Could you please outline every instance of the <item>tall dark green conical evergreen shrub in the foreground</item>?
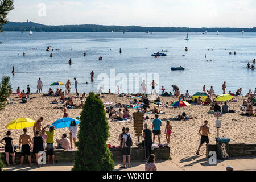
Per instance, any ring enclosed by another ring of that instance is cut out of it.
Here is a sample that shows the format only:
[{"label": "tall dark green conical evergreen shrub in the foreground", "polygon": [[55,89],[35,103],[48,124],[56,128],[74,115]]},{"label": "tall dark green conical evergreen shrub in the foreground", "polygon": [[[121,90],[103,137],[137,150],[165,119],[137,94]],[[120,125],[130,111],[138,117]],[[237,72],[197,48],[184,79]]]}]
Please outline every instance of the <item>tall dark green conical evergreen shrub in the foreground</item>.
[{"label": "tall dark green conical evergreen shrub in the foreground", "polygon": [[73,171],[113,171],[114,161],[111,159],[106,142],[109,138],[109,125],[103,102],[90,92],[80,117],[80,130],[77,135]]}]

